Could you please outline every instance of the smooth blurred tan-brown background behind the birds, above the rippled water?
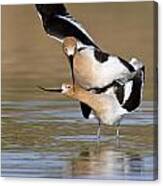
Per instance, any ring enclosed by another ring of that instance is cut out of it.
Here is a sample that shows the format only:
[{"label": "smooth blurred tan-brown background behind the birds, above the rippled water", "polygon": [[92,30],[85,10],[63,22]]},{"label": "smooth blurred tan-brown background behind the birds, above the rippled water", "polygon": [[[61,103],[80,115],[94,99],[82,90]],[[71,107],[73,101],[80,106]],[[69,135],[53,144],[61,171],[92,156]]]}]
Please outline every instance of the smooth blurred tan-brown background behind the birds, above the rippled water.
[{"label": "smooth blurred tan-brown background behind the birds, above the rippled water", "polygon": [[[145,63],[145,100],[153,99],[153,4],[66,4],[105,51],[126,60]],[[60,86],[69,81],[70,69],[61,44],[49,38],[34,5],[2,6],[2,100],[65,99],[44,94],[36,86]],[[108,72],[109,73],[109,72]]]}]

